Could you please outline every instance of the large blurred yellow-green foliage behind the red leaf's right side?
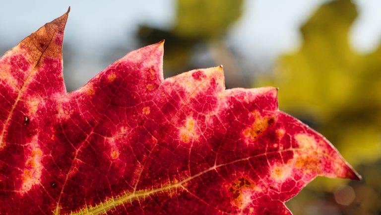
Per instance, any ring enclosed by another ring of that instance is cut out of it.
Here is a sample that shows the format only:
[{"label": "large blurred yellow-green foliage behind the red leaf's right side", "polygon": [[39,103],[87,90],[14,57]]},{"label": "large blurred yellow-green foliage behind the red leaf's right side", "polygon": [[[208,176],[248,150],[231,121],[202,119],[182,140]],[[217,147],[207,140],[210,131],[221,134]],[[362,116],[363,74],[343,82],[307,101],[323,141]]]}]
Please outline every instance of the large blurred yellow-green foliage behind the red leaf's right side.
[{"label": "large blurred yellow-green foliage behind the red leaf's right side", "polygon": [[381,155],[381,48],[353,50],[348,33],[357,16],[350,0],[323,4],[301,27],[301,48],[256,84],[279,87],[281,109],[323,133],[355,166]]}]

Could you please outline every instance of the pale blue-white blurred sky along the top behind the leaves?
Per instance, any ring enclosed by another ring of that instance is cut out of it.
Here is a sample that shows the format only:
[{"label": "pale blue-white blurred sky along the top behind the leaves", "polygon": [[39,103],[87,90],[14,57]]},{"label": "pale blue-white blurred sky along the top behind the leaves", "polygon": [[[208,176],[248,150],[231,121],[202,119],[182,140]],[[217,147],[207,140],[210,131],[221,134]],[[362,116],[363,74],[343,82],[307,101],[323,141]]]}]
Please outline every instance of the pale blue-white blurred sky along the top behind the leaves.
[{"label": "pale blue-white blurred sky along the top behind the leaves", "polygon": [[[168,27],[175,0],[12,0],[1,3],[0,40],[11,48],[44,23],[71,6],[65,30],[66,44],[75,50],[72,64],[81,85],[105,67],[104,50],[120,43],[126,47],[138,24]],[[247,0],[245,13],[229,32],[229,43],[253,62],[271,62],[301,43],[299,26],[324,0]],[[360,16],[351,32],[355,49],[368,52],[381,38],[381,1],[355,0]],[[242,42],[245,41],[245,42]],[[131,47],[131,45],[130,45]],[[133,47],[133,45],[132,45]],[[117,60],[117,59],[115,59]],[[109,62],[111,63],[111,62]],[[82,72],[82,70],[84,72]]]}]

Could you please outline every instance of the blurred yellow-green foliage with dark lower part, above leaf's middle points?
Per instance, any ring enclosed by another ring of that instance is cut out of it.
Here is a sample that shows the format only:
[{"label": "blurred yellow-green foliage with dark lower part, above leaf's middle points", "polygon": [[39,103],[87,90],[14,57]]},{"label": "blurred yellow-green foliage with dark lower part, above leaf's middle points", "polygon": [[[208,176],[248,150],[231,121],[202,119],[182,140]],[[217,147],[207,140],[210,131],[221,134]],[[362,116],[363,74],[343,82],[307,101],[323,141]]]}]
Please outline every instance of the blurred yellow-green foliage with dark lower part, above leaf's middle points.
[{"label": "blurred yellow-green foliage with dark lower part, above leaf's middle points", "polygon": [[196,49],[202,46],[208,49],[210,41],[221,40],[243,11],[243,0],[177,0],[176,3],[176,21],[170,29],[142,25],[137,32],[143,45],[166,39],[167,76],[197,68],[192,62]]}]

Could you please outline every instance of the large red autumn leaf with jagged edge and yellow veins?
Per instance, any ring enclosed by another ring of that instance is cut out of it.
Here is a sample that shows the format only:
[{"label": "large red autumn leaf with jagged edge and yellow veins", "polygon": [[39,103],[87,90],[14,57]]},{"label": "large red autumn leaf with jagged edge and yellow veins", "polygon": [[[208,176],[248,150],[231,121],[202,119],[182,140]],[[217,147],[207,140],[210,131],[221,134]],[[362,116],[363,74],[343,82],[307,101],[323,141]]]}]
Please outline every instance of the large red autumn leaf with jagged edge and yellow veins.
[{"label": "large red autumn leaf with jagged edge and yellow veins", "polygon": [[277,89],[225,90],[222,67],[163,78],[163,44],[67,93],[68,13],[0,60],[0,214],[291,214],[316,176],[359,179]]}]

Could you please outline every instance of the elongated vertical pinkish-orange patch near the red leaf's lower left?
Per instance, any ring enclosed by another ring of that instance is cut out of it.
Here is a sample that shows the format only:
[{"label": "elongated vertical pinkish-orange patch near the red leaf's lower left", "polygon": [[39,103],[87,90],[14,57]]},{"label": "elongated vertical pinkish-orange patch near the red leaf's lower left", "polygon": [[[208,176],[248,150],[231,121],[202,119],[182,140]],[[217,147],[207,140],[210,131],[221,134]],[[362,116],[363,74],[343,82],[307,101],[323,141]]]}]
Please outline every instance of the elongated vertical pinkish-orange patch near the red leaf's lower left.
[{"label": "elongated vertical pinkish-orange patch near the red leaf's lower left", "polygon": [[42,171],[42,150],[38,145],[37,135],[33,137],[31,143],[28,145],[30,153],[25,162],[25,167],[21,175],[22,185],[20,192],[24,194],[28,192],[34,185],[40,183]]}]

